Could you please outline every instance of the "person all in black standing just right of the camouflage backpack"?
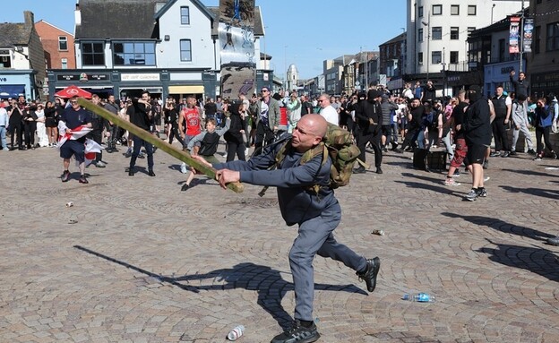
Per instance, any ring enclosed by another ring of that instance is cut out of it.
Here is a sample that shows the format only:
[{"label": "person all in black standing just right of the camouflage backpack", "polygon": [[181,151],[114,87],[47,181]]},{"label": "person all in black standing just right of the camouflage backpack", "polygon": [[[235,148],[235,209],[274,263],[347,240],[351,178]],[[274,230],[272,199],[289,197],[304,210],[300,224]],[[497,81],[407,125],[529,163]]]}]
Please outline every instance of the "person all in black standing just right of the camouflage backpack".
[{"label": "person all in black standing just right of the camouflage backpack", "polygon": [[[383,131],[383,110],[381,99],[383,93],[379,90],[369,90],[366,101],[361,101],[356,108],[357,121],[357,148],[361,150],[359,159],[365,162],[365,147],[367,141],[371,143],[374,150],[374,166],[377,174],[383,174],[381,164],[383,163],[383,152],[381,151],[381,136]],[[359,166],[353,169],[356,174],[365,173],[366,169]]]}]

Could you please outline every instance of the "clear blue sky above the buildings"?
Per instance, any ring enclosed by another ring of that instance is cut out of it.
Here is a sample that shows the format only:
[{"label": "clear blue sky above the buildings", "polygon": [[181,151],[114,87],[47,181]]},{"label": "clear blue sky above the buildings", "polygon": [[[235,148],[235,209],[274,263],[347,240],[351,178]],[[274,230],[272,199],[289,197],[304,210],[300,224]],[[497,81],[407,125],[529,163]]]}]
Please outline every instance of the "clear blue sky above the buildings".
[{"label": "clear blue sky above the buildings", "polygon": [[[285,74],[296,64],[301,78],[323,71],[323,60],[363,50],[378,50],[379,44],[403,32],[407,0],[256,0],[266,27],[266,54],[271,68]],[[73,33],[75,0],[3,0],[0,22],[22,22],[23,11]],[[202,0],[208,6],[219,0]],[[262,47],[263,49],[263,47]]]}]

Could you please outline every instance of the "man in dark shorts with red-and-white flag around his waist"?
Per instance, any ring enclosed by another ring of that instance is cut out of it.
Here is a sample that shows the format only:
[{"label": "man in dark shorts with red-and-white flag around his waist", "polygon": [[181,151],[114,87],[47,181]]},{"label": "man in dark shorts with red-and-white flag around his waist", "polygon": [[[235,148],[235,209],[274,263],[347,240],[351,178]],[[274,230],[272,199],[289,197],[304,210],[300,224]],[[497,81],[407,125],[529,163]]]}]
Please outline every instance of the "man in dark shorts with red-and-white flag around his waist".
[{"label": "man in dark shorts with red-and-white flag around his waist", "polygon": [[[78,104],[78,99],[73,98],[70,100],[70,107],[64,109],[64,113],[60,116],[60,121],[66,125],[66,134],[72,134],[73,131],[79,128],[91,128],[90,112]],[[60,147],[60,157],[64,159],[64,172],[62,173],[62,182],[67,182],[70,179],[70,159],[74,157],[80,164],[80,184],[88,184],[85,177],[85,134],[78,139],[68,139]]]}]

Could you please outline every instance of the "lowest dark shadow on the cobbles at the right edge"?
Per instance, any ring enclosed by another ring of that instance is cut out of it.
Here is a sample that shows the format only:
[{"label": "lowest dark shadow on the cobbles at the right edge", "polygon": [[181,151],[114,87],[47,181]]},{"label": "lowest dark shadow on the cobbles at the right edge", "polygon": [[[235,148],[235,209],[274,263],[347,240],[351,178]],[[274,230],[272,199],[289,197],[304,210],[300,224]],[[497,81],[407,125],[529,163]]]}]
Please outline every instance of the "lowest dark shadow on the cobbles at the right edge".
[{"label": "lowest dark shadow on the cobbles at the right edge", "polygon": [[496,248],[483,247],[478,253],[486,253],[489,260],[504,264],[509,267],[529,270],[544,278],[559,282],[559,262],[557,255],[546,249],[532,246],[520,246],[512,244],[495,244]]}]

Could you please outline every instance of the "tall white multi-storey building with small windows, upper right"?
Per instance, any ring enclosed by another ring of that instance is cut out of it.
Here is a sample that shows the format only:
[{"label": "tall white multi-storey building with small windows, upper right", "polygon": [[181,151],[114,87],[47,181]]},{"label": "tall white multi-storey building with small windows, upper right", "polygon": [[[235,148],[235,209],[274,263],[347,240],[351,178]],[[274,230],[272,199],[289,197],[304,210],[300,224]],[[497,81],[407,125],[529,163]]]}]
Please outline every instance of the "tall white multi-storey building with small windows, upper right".
[{"label": "tall white multi-storey building with small windows, upper right", "polygon": [[[522,8],[522,0],[409,0],[407,74],[468,71],[468,34]],[[419,78],[419,77],[418,77]]]}]

